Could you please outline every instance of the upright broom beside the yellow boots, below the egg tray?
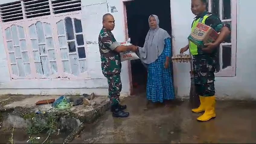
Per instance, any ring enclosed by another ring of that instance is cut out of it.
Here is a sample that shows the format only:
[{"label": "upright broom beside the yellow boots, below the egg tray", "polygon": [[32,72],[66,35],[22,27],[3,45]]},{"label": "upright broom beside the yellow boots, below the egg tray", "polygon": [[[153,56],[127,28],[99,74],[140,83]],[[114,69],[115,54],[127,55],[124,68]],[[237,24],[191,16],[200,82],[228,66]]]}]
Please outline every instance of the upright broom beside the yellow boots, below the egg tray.
[{"label": "upright broom beside the yellow boots, below the egg tray", "polygon": [[[190,53],[189,53],[190,54]],[[191,56],[191,54],[190,54]],[[192,108],[198,108],[200,105],[200,99],[199,95],[196,92],[196,87],[195,87],[195,80],[194,80],[194,72],[193,72],[193,66],[192,66],[192,61],[190,61],[190,93],[189,93],[189,101],[191,104]]]}]

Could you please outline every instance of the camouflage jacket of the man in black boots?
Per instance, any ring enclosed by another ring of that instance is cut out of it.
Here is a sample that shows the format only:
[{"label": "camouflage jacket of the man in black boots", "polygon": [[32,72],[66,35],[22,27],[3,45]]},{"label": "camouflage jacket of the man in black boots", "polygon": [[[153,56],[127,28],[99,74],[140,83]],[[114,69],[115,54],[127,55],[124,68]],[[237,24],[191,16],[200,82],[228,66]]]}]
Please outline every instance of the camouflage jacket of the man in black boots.
[{"label": "camouflage jacket of the man in black boots", "polygon": [[99,48],[101,54],[101,69],[104,76],[121,73],[120,54],[114,51],[120,46],[113,33],[106,28],[102,28],[99,34]]}]

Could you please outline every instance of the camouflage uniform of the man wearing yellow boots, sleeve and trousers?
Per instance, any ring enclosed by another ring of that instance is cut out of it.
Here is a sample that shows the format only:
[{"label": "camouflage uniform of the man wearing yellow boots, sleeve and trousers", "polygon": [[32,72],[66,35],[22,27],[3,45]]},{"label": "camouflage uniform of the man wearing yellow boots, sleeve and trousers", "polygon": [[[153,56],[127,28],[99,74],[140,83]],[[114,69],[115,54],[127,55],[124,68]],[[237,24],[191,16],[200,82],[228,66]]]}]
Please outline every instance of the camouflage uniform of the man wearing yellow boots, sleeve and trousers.
[{"label": "camouflage uniform of the man wearing yellow boots, sleeve and trousers", "polygon": [[[219,17],[215,14],[206,11],[195,17],[195,20],[204,17],[206,14],[209,14],[210,16],[205,20],[205,24],[212,27],[216,32],[220,32],[224,26],[229,27],[229,25],[222,23]],[[216,70],[217,49],[210,54],[202,52],[199,47],[197,50],[198,54],[193,56],[193,71],[196,91],[201,96],[213,96],[215,95],[214,72]]]}]

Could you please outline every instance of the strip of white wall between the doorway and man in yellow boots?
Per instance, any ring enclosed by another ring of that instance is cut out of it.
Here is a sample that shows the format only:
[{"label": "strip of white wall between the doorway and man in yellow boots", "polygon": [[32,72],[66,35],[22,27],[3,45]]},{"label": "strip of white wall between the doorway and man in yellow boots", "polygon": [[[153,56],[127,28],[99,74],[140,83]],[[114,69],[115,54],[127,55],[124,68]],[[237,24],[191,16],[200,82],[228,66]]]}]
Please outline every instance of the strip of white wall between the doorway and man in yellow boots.
[{"label": "strip of white wall between the doorway and man in yellow boots", "polygon": [[[186,2],[184,2],[186,1]],[[180,49],[188,44],[187,36],[191,31],[194,18],[190,10],[190,0],[171,1],[171,31],[173,55],[180,53]],[[188,54],[188,52],[187,52]],[[189,95],[190,91],[190,64],[173,63],[175,94],[181,97]]]}]

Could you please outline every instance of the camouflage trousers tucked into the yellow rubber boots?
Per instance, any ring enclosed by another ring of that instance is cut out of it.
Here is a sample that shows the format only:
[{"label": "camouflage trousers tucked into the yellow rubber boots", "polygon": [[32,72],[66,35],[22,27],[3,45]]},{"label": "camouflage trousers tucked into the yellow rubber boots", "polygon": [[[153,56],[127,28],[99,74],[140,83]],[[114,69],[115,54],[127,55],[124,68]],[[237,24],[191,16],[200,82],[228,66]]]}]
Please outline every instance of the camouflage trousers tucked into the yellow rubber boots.
[{"label": "camouflage trousers tucked into the yellow rubber boots", "polygon": [[212,58],[193,58],[193,72],[196,92],[200,96],[215,95],[215,61]]}]

